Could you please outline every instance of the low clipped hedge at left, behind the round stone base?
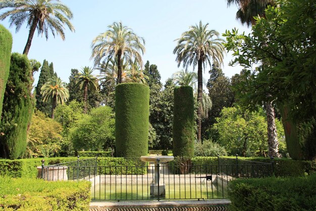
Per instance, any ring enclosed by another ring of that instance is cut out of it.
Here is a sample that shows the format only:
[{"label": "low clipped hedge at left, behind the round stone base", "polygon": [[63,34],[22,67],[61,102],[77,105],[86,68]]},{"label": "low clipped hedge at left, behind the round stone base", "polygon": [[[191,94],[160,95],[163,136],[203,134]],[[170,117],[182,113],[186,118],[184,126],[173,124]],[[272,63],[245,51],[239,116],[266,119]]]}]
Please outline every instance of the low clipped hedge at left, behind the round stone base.
[{"label": "low clipped hedge at left, behind the round stone base", "polygon": [[[45,165],[57,164],[62,162],[75,161],[77,157],[52,157],[52,158],[30,158],[30,159],[0,159],[0,177],[23,177],[36,178],[37,166],[41,166],[41,160],[45,160]],[[80,157],[85,159],[85,157]]]}]

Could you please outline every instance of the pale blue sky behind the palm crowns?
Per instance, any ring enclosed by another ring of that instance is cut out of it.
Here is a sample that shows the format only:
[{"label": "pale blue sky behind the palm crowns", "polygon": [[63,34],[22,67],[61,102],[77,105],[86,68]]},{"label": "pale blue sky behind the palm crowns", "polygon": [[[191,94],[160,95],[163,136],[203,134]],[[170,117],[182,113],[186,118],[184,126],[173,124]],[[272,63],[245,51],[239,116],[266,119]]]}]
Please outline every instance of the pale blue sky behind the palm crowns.
[{"label": "pale blue sky behind the palm crowns", "polygon": [[[214,29],[220,34],[232,28],[239,32],[250,32],[236,20],[237,6],[227,8],[226,0],[61,0],[73,12],[73,23],[76,32],[65,29],[66,39],[63,41],[58,35],[50,33],[48,40],[44,36],[37,36],[35,32],[28,54],[29,59],[36,59],[40,63],[46,59],[54,63],[54,70],[62,80],[69,82],[71,69],[81,69],[84,66],[93,66],[91,57],[92,40],[108,29],[113,22],[122,21],[123,25],[145,39],[146,52],[143,63],[148,60],[155,64],[164,83],[178,68],[173,50],[175,39],[179,38],[189,26],[202,21],[209,23],[208,29]],[[2,11],[0,11],[2,13]],[[22,53],[28,36],[28,28],[24,24],[19,32],[15,27],[9,28],[9,18],[0,21],[13,35],[12,52]],[[224,38],[224,37],[222,37]],[[231,67],[229,62],[232,56],[228,53],[224,60],[223,71],[226,76],[239,73],[240,66]],[[182,64],[181,64],[182,65]],[[209,78],[205,69],[203,78]],[[189,70],[193,70],[189,68]],[[195,69],[197,71],[197,68]],[[95,70],[94,74],[98,74]],[[34,86],[37,83],[39,72],[35,73]]]}]

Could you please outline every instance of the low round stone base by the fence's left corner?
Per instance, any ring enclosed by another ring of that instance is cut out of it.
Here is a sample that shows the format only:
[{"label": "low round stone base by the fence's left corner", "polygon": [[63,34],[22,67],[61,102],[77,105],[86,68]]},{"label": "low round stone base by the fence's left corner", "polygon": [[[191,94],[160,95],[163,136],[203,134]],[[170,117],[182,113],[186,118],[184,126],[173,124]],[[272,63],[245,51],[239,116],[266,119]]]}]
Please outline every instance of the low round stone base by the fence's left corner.
[{"label": "low round stone base by the fence's left corner", "polygon": [[68,166],[55,166],[55,167],[44,167],[43,178],[42,178],[42,166],[37,167],[37,178],[42,178],[48,181],[61,181],[68,180],[67,177]]}]

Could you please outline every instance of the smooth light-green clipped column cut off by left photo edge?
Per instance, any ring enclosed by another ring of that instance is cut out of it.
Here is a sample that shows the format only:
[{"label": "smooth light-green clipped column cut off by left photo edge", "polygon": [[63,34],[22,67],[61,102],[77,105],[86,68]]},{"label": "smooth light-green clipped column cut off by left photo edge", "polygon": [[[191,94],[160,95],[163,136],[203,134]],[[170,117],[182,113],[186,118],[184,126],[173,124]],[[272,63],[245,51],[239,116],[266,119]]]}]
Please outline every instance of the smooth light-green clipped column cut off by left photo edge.
[{"label": "smooth light-green clipped column cut off by left photo edge", "polygon": [[3,25],[0,25],[0,116],[10,70],[11,49],[12,35]]}]

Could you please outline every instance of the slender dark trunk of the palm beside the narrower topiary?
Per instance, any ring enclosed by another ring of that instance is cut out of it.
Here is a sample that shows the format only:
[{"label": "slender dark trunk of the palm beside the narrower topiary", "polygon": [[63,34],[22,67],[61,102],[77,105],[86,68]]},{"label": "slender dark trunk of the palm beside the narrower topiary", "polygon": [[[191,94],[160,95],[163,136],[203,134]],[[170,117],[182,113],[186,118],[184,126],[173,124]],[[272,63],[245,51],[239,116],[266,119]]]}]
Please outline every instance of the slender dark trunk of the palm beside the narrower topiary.
[{"label": "slender dark trunk of the palm beside the narrower topiary", "polygon": [[202,60],[197,61],[197,141],[201,142],[202,98],[203,98]]}]

